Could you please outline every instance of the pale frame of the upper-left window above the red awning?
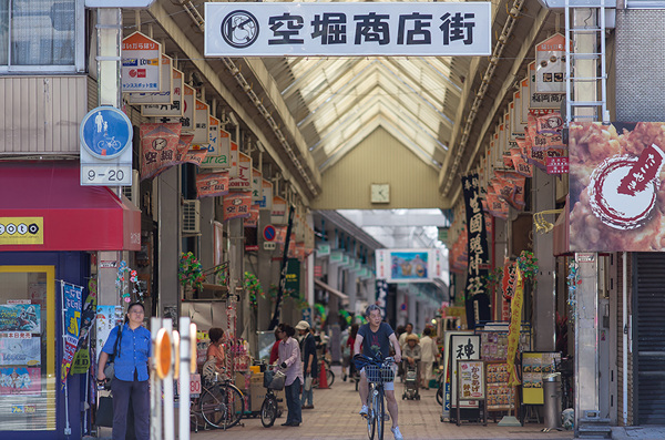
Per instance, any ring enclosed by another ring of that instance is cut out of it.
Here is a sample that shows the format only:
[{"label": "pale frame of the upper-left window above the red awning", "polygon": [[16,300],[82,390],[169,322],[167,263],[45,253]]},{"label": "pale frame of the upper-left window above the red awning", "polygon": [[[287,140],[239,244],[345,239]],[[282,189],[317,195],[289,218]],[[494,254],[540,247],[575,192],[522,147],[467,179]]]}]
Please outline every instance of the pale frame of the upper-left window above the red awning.
[{"label": "pale frame of the upper-left window above the red awning", "polygon": [[[11,13],[12,2],[9,0],[8,10]],[[11,64],[11,28],[8,30],[8,64],[0,64],[1,74],[63,74],[85,72],[85,0],[75,0],[75,25],[74,25],[74,63],[70,65],[12,65]]]}]

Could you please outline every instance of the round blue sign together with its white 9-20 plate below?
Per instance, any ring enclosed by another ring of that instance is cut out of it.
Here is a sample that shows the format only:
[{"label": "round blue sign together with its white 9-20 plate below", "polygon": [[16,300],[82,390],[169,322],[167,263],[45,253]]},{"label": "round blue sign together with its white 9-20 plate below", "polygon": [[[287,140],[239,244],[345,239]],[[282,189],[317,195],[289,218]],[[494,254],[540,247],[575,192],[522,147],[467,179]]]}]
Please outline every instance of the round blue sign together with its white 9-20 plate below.
[{"label": "round blue sign together with its white 9-20 plate below", "polygon": [[81,122],[81,185],[132,185],[132,122],[121,110],[99,106]]}]

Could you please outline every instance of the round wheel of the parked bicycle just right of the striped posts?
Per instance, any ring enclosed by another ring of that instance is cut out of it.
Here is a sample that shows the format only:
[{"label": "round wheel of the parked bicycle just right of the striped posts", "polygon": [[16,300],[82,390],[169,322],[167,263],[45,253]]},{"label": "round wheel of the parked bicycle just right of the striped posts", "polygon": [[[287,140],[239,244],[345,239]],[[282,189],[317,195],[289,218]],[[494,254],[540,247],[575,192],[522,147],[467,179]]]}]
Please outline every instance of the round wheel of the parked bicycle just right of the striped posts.
[{"label": "round wheel of the parked bicycle just right of the striped posts", "polygon": [[201,397],[201,413],[214,428],[231,428],[241,421],[245,402],[241,391],[233,386],[218,386],[206,389]]}]

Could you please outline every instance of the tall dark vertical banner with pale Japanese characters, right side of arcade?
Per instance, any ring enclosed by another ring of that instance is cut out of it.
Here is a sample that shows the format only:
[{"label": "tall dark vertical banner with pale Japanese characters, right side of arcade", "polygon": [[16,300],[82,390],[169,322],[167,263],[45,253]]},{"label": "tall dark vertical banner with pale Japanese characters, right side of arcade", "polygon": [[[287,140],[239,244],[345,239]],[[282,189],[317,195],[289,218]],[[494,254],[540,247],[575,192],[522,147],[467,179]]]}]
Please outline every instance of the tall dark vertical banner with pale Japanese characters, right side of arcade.
[{"label": "tall dark vertical banner with pale Japanese characters, right side of arcade", "polygon": [[490,318],[489,304],[483,304],[483,301],[488,297],[485,279],[489,274],[491,259],[484,212],[480,199],[478,174],[463,176],[462,188],[467,209],[467,249],[469,260],[467,287],[464,289],[467,295],[467,323],[469,328],[474,328],[477,320],[489,320]]}]

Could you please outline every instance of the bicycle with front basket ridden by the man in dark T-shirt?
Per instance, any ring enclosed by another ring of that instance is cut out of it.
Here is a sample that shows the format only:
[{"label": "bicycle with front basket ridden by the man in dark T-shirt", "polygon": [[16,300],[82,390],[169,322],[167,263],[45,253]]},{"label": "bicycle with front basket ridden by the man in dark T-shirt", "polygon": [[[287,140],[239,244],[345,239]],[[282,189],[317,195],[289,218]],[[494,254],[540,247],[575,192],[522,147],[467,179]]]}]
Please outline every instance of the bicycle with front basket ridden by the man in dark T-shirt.
[{"label": "bicycle with front basket ridden by the man in dark T-shirt", "polygon": [[[392,357],[369,358],[365,355],[356,355],[354,358],[359,359],[359,362],[365,362],[365,376],[369,386],[367,436],[369,440],[374,440],[376,433],[378,440],[383,440],[383,423],[387,419],[383,383],[395,381],[395,359]],[[359,365],[356,367],[362,369]]]}]

